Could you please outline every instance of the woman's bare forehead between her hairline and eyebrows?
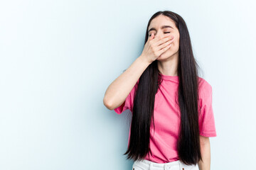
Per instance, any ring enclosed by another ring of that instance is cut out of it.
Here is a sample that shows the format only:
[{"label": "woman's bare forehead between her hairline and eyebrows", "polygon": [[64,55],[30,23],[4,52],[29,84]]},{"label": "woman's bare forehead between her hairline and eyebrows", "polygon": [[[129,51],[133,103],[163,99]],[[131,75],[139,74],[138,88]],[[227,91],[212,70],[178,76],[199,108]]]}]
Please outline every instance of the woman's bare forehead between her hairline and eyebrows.
[{"label": "woman's bare forehead between her hairline and eyebrows", "polygon": [[171,20],[171,18],[169,18],[168,16],[160,15],[156,16],[156,18],[151,21],[148,30],[150,30],[151,28],[159,29],[161,28],[161,26],[171,26],[172,28],[176,29],[175,23]]}]

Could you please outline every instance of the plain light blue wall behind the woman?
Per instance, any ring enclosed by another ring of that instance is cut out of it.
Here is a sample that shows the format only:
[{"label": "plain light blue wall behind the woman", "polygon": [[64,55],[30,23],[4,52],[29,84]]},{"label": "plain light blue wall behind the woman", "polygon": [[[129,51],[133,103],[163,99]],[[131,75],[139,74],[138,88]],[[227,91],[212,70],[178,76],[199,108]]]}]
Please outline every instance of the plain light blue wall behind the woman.
[{"label": "plain light blue wall behind the woman", "polygon": [[255,168],[253,1],[1,1],[0,169],[132,169],[129,112],[103,105],[156,11],[181,15],[213,87],[211,169]]}]

